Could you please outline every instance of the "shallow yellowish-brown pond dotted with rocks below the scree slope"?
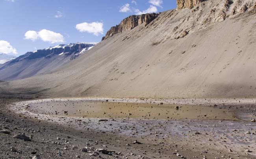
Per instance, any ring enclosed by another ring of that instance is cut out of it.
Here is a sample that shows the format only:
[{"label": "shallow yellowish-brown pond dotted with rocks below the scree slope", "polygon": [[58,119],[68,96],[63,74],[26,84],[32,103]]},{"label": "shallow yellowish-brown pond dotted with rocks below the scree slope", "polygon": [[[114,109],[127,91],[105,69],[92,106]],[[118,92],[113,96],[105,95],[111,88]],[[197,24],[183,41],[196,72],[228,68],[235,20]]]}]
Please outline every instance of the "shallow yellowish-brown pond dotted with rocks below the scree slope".
[{"label": "shallow yellowish-brown pond dotted with rocks below the scree slope", "polygon": [[[179,107],[178,110],[176,106]],[[27,109],[36,114],[86,118],[237,119],[228,108],[156,103],[46,101],[30,104]]]}]

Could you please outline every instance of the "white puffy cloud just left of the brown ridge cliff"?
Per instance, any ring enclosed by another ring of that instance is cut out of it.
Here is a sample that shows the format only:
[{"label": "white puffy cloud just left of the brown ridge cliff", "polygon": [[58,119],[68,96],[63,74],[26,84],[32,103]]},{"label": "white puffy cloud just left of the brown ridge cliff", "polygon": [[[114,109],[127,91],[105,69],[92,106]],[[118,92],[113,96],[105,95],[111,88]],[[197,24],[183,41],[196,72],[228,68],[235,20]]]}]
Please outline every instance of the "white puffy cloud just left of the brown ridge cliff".
[{"label": "white puffy cloud just left of the brown ridge cliff", "polygon": [[96,36],[103,34],[103,23],[102,22],[92,22],[92,23],[79,23],[76,24],[76,29],[80,32],[93,33]]}]

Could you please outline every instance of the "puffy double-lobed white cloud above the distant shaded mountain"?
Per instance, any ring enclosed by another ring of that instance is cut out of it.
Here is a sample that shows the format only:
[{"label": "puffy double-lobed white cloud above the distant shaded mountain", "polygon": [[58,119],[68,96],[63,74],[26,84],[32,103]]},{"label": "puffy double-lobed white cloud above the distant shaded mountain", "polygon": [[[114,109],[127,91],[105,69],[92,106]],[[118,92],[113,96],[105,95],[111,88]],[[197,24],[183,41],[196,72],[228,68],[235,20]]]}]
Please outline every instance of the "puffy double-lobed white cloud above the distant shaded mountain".
[{"label": "puffy double-lobed white cloud above the distant shaded mountain", "polygon": [[53,31],[46,30],[46,29],[43,29],[39,32],[27,31],[25,33],[25,39],[35,41],[39,38],[44,42],[50,42],[50,43],[64,42],[63,35],[61,35],[60,33],[55,33]]}]

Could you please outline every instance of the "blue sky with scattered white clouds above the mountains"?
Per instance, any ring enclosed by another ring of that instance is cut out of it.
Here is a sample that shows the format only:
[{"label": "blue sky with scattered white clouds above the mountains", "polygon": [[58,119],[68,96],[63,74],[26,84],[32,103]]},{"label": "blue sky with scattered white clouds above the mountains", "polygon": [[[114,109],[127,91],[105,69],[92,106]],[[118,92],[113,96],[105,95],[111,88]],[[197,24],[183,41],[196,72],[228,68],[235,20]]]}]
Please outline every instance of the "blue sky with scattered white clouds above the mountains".
[{"label": "blue sky with scattered white clouds above the mountains", "polygon": [[174,8],[176,0],[0,0],[0,53],[100,42],[129,15]]}]

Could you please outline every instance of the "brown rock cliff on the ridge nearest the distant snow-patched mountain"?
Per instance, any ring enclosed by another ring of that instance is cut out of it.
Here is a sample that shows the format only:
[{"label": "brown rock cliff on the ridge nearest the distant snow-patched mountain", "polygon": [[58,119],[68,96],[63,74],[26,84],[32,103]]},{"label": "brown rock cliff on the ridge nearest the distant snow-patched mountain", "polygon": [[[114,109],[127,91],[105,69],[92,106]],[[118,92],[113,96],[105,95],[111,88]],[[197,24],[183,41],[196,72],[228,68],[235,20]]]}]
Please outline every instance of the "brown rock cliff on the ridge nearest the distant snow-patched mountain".
[{"label": "brown rock cliff on the ridge nearest the distant snow-patched mountain", "polygon": [[106,33],[106,36],[102,38],[102,40],[107,39],[117,33],[122,33],[124,31],[130,31],[134,27],[138,25],[148,25],[150,22],[152,22],[156,17],[158,17],[159,14],[157,13],[151,13],[151,14],[141,14],[141,15],[132,15],[124,20],[121,21],[119,25],[116,25],[115,27],[111,27],[109,31]]}]

